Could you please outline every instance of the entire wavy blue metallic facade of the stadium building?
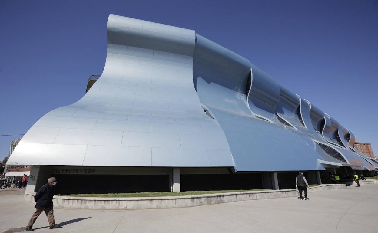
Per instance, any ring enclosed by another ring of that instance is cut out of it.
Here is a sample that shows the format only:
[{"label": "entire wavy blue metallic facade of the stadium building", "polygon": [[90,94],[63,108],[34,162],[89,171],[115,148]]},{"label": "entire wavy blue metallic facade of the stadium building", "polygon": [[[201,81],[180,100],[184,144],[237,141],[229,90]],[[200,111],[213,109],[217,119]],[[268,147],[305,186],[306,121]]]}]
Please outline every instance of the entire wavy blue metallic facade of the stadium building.
[{"label": "entire wavy blue metallic facade of the stadium building", "polygon": [[110,15],[104,71],[50,111],[8,163],[374,170],[339,125],[238,54],[193,30]]}]

